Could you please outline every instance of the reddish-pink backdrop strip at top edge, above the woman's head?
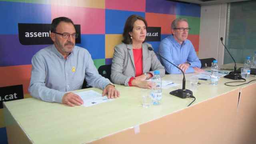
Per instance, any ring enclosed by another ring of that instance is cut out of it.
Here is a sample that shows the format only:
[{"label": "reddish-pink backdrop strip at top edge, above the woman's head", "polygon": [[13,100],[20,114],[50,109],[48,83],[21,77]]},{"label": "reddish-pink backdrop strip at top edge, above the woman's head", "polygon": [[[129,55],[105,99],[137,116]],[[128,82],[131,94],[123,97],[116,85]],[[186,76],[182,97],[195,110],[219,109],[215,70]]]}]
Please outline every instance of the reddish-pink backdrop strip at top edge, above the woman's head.
[{"label": "reddish-pink backdrop strip at top edge, above the woman's head", "polygon": [[106,9],[145,12],[146,0],[106,0]]}]

